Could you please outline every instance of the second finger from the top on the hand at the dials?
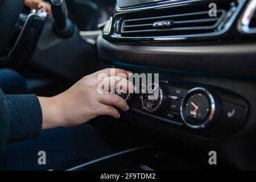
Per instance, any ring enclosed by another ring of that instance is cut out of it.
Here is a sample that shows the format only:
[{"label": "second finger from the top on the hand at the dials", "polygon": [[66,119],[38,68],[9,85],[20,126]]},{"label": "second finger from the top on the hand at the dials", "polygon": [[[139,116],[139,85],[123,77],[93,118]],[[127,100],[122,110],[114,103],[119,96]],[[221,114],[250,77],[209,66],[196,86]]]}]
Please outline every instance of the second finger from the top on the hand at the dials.
[{"label": "second finger from the top on the hand at the dials", "polygon": [[99,80],[98,90],[101,90],[102,92],[108,92],[109,90],[122,90],[127,93],[133,93],[134,85],[131,81],[126,80],[125,78],[112,76]]}]

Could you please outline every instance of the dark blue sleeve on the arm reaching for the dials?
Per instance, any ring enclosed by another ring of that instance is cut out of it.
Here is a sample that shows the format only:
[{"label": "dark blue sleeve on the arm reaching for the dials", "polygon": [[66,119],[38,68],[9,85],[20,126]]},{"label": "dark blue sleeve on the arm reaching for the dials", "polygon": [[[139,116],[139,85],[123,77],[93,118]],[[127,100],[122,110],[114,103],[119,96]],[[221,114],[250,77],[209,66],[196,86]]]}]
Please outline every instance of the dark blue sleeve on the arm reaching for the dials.
[{"label": "dark blue sleeve on the arm reaching for the dials", "polygon": [[1,151],[8,143],[39,137],[41,130],[42,109],[38,97],[5,95],[0,89]]}]

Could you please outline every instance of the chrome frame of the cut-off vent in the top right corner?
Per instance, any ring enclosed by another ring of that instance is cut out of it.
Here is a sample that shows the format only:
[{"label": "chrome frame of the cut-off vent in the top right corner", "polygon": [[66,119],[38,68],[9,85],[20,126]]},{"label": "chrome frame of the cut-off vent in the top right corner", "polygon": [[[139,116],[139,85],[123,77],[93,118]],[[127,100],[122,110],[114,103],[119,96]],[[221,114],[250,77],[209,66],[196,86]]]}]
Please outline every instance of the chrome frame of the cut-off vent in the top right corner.
[{"label": "chrome frame of the cut-off vent in the top right corner", "polygon": [[237,29],[243,34],[256,34],[256,27],[250,28],[251,19],[256,13],[256,0],[251,0],[246,6],[243,14],[238,21]]}]

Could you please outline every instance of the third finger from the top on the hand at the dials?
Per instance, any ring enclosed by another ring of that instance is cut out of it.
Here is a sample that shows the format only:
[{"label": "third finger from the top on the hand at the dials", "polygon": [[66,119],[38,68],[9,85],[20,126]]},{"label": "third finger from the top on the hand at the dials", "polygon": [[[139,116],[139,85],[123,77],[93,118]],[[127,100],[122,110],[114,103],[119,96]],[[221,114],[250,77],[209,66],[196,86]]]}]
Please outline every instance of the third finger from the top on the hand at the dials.
[{"label": "third finger from the top on the hand at the dials", "polygon": [[117,94],[100,94],[99,101],[101,102],[101,104],[112,105],[118,107],[123,111],[129,110],[129,106],[127,105],[126,101]]}]

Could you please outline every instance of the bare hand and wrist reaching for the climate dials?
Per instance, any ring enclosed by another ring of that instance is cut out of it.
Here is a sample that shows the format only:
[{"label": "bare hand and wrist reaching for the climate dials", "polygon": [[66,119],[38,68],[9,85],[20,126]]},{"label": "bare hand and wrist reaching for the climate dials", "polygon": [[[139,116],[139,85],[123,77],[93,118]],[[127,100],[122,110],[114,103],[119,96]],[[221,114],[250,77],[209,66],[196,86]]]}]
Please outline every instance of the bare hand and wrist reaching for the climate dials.
[{"label": "bare hand and wrist reaching for the climate dials", "polygon": [[[110,72],[113,71],[115,72],[114,76],[110,75]],[[107,76],[99,80],[98,76],[102,73]],[[115,107],[127,111],[129,106],[117,94],[105,92],[117,85],[123,90],[133,92],[134,86],[127,80],[128,77],[128,73],[122,69],[104,69],[85,76],[58,96],[52,98],[39,97],[43,111],[43,129],[82,125],[99,115],[110,115],[119,118],[120,114]],[[109,87],[99,87],[102,84],[109,85]]]}]

